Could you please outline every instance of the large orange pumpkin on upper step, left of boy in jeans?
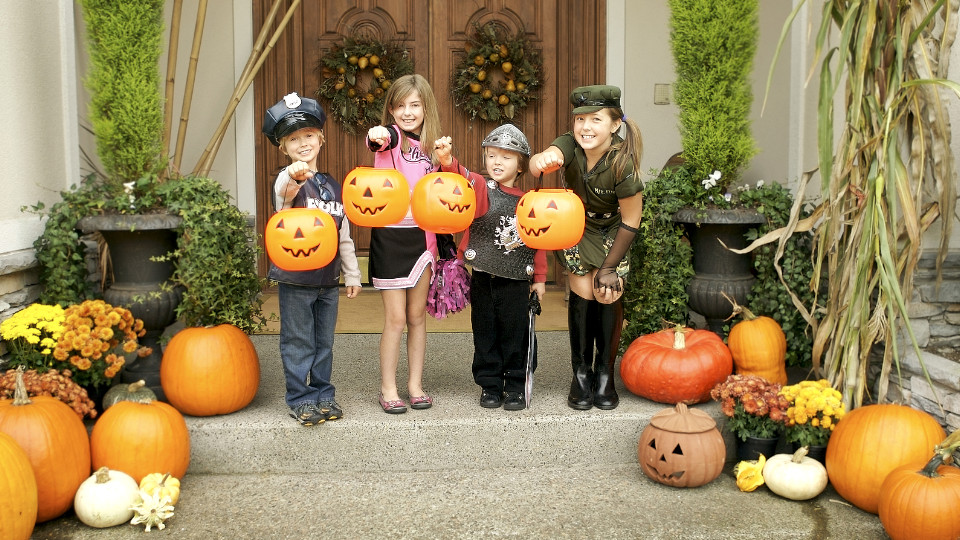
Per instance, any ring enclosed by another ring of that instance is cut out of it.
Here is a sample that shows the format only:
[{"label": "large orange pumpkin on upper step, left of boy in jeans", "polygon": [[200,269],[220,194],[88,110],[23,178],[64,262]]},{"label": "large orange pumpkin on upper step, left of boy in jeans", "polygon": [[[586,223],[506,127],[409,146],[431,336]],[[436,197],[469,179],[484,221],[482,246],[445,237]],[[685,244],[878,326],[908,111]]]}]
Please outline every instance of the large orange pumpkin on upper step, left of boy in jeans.
[{"label": "large orange pumpkin on upper step, left of boy in jeans", "polygon": [[257,395],[260,359],[236,326],[184,328],[163,351],[160,384],[167,401],[184,414],[229,414]]}]

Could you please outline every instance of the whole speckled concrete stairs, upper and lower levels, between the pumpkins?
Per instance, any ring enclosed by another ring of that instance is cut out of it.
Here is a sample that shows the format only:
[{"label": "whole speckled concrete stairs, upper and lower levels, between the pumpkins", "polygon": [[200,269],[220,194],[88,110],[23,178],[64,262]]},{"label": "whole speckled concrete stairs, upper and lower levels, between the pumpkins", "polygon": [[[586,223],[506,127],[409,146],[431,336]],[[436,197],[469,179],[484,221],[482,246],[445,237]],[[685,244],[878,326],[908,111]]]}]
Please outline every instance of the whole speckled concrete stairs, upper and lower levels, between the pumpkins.
[{"label": "whole speckled concrete stairs, upper and lower levels, between the pumpkins", "polygon": [[[469,334],[429,334],[426,411],[376,402],[377,335],[337,335],[342,420],[302,427],[287,415],[277,336],[254,336],[263,367],[254,402],[187,417],[192,460],[167,528],[185,539],[880,539],[876,516],[832,489],[806,502],[740,492],[728,466],[696,489],[670,488],[637,465],[640,432],[665,405],[620,387],[613,411],[566,406],[565,332],[538,333],[530,409],[478,405]],[[404,364],[405,362],[401,362]],[[400,380],[405,381],[405,374]],[[715,404],[699,408],[718,417]],[[722,423],[722,421],[721,421]],[[141,538],[142,526],[93,529],[72,512],[35,540]]]}]

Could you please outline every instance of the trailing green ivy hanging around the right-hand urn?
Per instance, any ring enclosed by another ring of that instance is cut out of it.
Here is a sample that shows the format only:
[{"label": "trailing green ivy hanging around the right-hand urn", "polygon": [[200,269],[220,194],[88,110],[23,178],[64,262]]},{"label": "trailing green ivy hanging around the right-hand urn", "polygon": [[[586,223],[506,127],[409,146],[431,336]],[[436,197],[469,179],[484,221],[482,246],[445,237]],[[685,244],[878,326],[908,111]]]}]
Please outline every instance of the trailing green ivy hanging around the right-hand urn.
[{"label": "trailing green ivy hanging around the right-hand urn", "polygon": [[[629,254],[631,268],[637,270],[627,276],[623,294],[627,324],[621,349],[639,336],[661,330],[663,321],[687,321],[687,286],[694,277],[693,253],[684,239],[683,227],[673,216],[690,201],[701,200],[702,191],[701,186],[689,181],[689,173],[682,167],[665,167],[644,186],[641,233]],[[794,207],[790,191],[776,182],[763,180],[753,186],[739,186],[723,201],[753,209],[765,218],[766,223],[746,231],[747,241],[759,241],[786,225]],[[801,218],[808,214],[800,210]],[[783,329],[787,339],[786,363],[790,366],[810,366],[811,337],[806,331],[807,315],[801,308],[813,298],[809,288],[813,276],[811,240],[810,234],[792,234],[785,239],[782,249],[775,243],[759,245],[747,259],[755,279],[746,305],[757,315],[773,318]],[[729,315],[728,302],[724,317]]]}]

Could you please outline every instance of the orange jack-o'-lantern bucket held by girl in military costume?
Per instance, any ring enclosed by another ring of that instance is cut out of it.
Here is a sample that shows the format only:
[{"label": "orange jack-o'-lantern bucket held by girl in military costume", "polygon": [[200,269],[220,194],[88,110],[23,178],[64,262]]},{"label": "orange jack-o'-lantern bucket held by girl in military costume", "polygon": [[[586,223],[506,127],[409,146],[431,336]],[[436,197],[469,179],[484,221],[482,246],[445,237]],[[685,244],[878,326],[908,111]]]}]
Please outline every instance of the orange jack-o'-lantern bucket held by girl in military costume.
[{"label": "orange jack-o'-lantern bucket held by girl in military costume", "polygon": [[566,249],[583,236],[586,215],[569,189],[528,191],[517,203],[517,232],[533,249]]}]

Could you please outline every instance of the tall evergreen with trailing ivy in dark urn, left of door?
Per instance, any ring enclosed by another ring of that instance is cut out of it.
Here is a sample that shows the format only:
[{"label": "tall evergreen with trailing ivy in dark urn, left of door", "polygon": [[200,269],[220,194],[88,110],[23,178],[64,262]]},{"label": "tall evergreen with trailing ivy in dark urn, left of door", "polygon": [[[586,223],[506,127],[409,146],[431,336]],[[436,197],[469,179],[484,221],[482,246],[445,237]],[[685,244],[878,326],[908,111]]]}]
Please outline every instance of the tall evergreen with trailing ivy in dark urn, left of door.
[{"label": "tall evergreen with trailing ivy in dark urn, left of door", "polygon": [[[128,364],[123,380],[145,379],[162,398],[159,338],[170,323],[231,323],[245,332],[262,326],[255,233],[217,182],[167,170],[169,123],[159,76],[164,2],[82,0],[81,6],[103,171],[62,192],[49,209],[31,208],[48,217],[34,243],[41,301],[66,306],[102,294],[133,311],[153,354]],[[168,62],[175,65],[175,58]],[[252,76],[244,73],[242,82]],[[209,170],[211,156],[205,152],[198,170]],[[93,242],[100,277],[91,280]]]}]

